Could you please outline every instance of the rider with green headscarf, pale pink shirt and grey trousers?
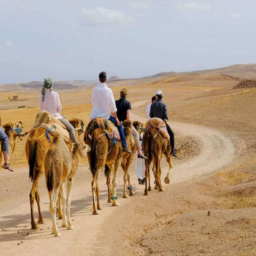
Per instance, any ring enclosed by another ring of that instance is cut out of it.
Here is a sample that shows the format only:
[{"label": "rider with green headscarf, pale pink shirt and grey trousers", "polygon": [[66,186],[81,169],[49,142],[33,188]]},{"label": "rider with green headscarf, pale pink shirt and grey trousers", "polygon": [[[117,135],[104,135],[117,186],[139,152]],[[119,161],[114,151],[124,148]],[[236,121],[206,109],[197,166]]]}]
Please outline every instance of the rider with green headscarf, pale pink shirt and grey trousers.
[{"label": "rider with green headscarf, pale pink shirt and grey trousers", "polygon": [[51,77],[44,78],[44,85],[42,88],[42,94],[40,95],[40,108],[46,110],[55,116],[64,126],[67,128],[70,134],[72,142],[76,142],[76,133],[74,126],[68,122],[64,117],[60,115],[62,106],[60,103],[60,97],[53,89],[54,80]]}]

